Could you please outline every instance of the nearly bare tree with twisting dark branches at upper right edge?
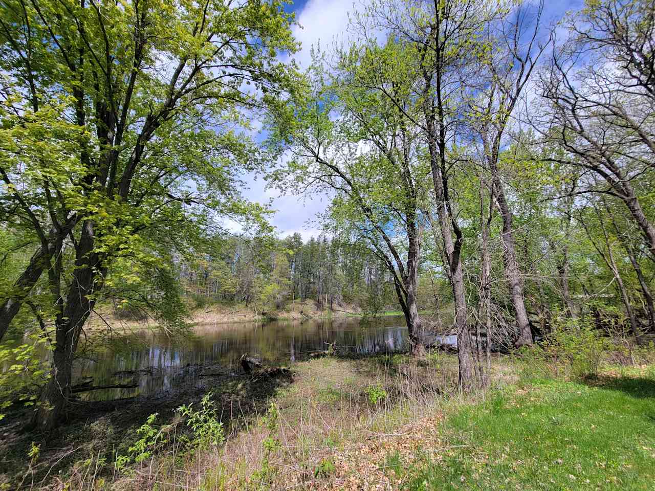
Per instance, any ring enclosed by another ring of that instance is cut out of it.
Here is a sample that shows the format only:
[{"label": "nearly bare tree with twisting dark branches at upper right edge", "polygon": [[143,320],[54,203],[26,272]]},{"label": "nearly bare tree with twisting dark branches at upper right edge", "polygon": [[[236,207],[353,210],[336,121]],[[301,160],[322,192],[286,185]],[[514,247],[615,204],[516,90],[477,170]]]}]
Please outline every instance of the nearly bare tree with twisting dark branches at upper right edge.
[{"label": "nearly bare tree with twisting dark branches at upper right edge", "polygon": [[533,124],[566,152],[553,162],[584,176],[578,193],[610,194],[626,206],[655,261],[648,198],[655,172],[655,4],[601,0],[565,22],[569,37],[539,80]]}]

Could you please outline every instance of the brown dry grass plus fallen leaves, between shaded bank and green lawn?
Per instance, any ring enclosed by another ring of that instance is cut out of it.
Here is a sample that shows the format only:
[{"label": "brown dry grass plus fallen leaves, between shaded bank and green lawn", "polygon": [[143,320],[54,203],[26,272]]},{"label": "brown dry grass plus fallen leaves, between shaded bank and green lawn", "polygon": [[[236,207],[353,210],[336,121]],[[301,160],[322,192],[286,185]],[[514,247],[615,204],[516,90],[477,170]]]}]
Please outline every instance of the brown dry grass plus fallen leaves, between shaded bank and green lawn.
[{"label": "brown dry grass plus fallen leaves, between shaded bank and green lawn", "polygon": [[[456,382],[453,355],[299,363],[293,384],[270,401],[279,414],[272,431],[259,416],[219,448],[181,456],[172,445],[136,474],[115,475],[113,489],[393,489],[398,482],[386,460],[439,450],[444,395],[462,397]],[[386,395],[373,402],[371,388]],[[267,438],[278,442],[268,466]]]}]

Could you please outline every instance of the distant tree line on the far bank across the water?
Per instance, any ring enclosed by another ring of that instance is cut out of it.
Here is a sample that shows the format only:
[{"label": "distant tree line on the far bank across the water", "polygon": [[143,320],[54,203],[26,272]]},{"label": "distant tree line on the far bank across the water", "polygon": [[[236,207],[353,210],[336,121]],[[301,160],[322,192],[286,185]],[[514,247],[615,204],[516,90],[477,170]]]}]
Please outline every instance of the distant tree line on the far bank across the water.
[{"label": "distant tree line on the far bank across the water", "polygon": [[326,234],[303,242],[297,232],[268,240],[223,234],[212,244],[176,261],[183,293],[198,303],[240,303],[260,312],[305,300],[317,309],[354,304],[371,312],[396,304],[386,268],[358,244]]}]

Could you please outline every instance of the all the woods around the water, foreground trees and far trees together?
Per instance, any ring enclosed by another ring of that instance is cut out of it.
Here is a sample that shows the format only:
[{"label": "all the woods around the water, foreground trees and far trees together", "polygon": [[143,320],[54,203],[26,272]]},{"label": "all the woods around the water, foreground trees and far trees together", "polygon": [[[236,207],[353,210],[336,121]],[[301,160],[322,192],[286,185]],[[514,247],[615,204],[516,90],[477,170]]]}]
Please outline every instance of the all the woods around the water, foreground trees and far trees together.
[{"label": "all the woods around the water, foreground trees and far trees together", "polygon": [[[457,335],[463,390],[492,344],[570,319],[655,334],[652,0],[554,22],[543,2],[374,0],[305,70],[288,12],[0,3],[3,411],[57,426],[96,311],[175,336],[207,302],[400,310],[414,355]],[[274,229],[248,175],[327,196],[323,232]]]}]

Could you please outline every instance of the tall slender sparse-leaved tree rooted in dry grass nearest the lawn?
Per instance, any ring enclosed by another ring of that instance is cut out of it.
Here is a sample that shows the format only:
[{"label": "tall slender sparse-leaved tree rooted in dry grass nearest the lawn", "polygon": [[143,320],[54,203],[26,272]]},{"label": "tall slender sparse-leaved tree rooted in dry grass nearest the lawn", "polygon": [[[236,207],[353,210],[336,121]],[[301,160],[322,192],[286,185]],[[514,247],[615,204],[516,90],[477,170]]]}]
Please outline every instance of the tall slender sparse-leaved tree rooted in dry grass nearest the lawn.
[{"label": "tall slender sparse-leaved tree rooted in dry grass nearest the lawn", "polygon": [[461,259],[464,237],[453,198],[452,176],[458,172],[458,164],[465,160],[458,150],[463,77],[471,66],[476,37],[492,11],[486,5],[478,9],[474,2],[467,0],[417,1],[403,5],[380,1],[358,18],[360,29],[369,39],[375,39],[375,29],[382,28],[406,46],[411,75],[405,84],[406,94],[402,92],[402,96],[413,102],[413,110],[405,109],[398,94],[390,90],[384,90],[383,94],[407,118],[408,124],[419,130],[427,147],[445,272],[455,301],[459,380],[465,388],[481,382],[482,374],[472,352]]}]

